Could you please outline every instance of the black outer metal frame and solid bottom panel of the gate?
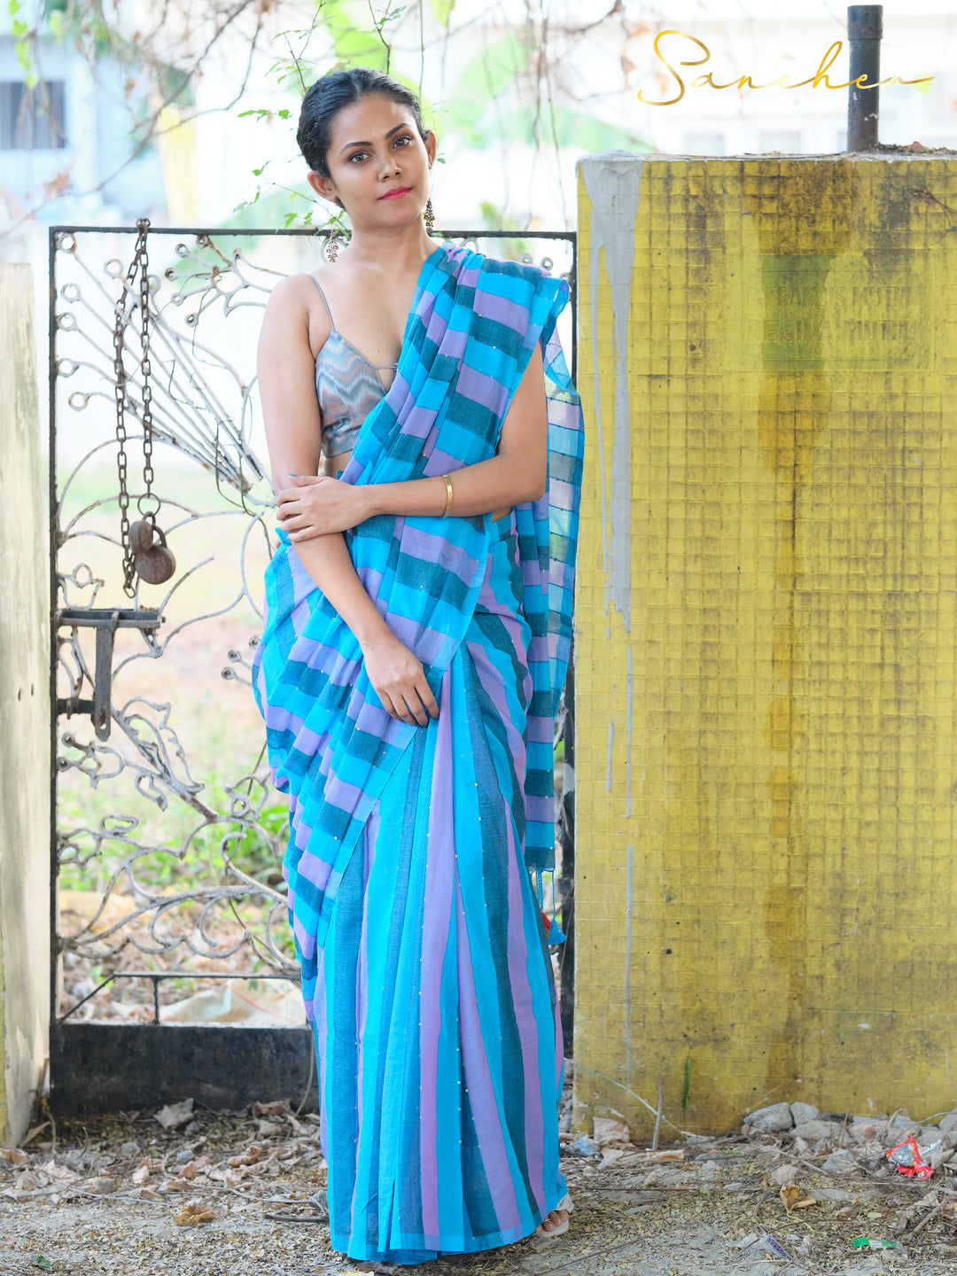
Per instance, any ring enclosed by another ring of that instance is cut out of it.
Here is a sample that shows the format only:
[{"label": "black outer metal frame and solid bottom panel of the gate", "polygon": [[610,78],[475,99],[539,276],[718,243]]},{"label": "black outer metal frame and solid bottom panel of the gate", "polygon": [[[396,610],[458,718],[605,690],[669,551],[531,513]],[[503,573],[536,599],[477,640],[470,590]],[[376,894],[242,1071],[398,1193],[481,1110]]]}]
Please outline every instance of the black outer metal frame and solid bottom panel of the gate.
[{"label": "black outer metal frame and solid bottom panel of the gate", "polygon": [[[225,1026],[175,1026],[160,1022],[158,981],[188,974],[194,979],[225,980],[242,977],[222,972],[209,975],[166,971],[149,974],[138,971],[137,977],[153,980],[154,1020],[151,1023],[71,1022],[70,1014],[83,1004],[57,1014],[57,963],[60,961],[59,906],[57,906],[57,732],[60,713],[57,702],[57,637],[65,623],[59,607],[57,587],[57,490],[56,490],[56,251],[57,236],[75,234],[137,235],[134,226],[78,226],[57,225],[48,230],[48,491],[50,491],[50,1108],[60,1115],[80,1115],[117,1110],[160,1106],[186,1096],[199,1105],[217,1110],[244,1110],[255,1100],[269,1101],[301,1096],[300,1108],[314,1111],[319,1108],[319,1088],[315,1077],[313,1031],[304,1028],[260,1028]],[[291,230],[237,230],[231,227],[166,227],[151,228],[152,236],[181,235],[203,237],[325,237],[328,231],[311,227]],[[572,309],[572,367],[577,384],[577,234],[574,231],[489,231],[450,230],[436,231],[445,240],[476,241],[478,239],[544,239],[570,244],[572,268],[569,272],[569,305]],[[145,609],[140,609],[145,610]],[[91,708],[93,706],[91,704]],[[560,713],[561,736],[565,744],[564,775],[574,781],[574,633],[569,658],[568,679],[563,692]],[[560,1014],[565,1054],[572,1054],[574,1013],[574,782],[563,785],[561,804],[556,819],[556,840],[561,847],[561,873],[554,879],[556,911],[561,917],[565,940],[559,949],[561,974]],[[112,979],[115,972],[100,988]],[[256,979],[282,979],[262,976]],[[94,995],[94,989],[89,997]]]}]

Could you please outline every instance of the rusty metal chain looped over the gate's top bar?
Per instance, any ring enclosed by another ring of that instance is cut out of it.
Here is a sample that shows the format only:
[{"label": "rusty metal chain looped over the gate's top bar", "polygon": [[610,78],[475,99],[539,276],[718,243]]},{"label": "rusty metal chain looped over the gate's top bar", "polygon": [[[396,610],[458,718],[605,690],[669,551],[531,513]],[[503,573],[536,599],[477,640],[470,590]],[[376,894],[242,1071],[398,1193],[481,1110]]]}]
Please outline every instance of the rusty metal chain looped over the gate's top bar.
[{"label": "rusty metal chain looped over the gate's top bar", "polygon": [[[135,283],[137,272],[139,271],[139,314],[140,314],[140,341],[143,346],[143,357],[140,360],[140,369],[143,373],[143,480],[145,485],[145,493],[137,501],[139,512],[144,518],[149,518],[151,523],[156,526],[156,513],[160,508],[160,503],[156,496],[152,495],[151,485],[153,481],[153,416],[152,416],[152,398],[153,392],[149,385],[149,259],[147,255],[147,231],[149,230],[149,218],[140,217],[137,219],[137,248],[133,254],[133,262],[126,272],[126,277],[122,285],[122,296],[116,302],[114,310],[115,323],[114,323],[114,394],[116,398],[116,441],[117,441],[117,454],[116,464],[120,477],[120,544],[122,545],[122,591],[128,597],[133,598],[135,596],[135,588],[133,587],[133,577],[137,573],[135,568],[135,550],[130,541],[130,521],[128,516],[130,495],[126,487],[126,424],[124,420],[124,411],[126,406],[126,369],[122,364],[122,346],[124,346],[124,329],[126,327],[126,297],[129,296],[130,288]],[[144,510],[144,500],[157,501],[156,509]]]}]

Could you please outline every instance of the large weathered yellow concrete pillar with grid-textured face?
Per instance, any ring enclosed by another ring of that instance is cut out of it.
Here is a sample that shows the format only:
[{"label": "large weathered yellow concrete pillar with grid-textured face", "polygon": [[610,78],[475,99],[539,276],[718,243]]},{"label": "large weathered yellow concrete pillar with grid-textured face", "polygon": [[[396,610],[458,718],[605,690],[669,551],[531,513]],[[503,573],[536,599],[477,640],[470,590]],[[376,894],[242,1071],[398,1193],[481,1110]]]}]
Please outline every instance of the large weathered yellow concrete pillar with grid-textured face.
[{"label": "large weathered yellow concrete pillar with grid-textured face", "polygon": [[949,1110],[957,162],[578,189],[575,1125]]}]

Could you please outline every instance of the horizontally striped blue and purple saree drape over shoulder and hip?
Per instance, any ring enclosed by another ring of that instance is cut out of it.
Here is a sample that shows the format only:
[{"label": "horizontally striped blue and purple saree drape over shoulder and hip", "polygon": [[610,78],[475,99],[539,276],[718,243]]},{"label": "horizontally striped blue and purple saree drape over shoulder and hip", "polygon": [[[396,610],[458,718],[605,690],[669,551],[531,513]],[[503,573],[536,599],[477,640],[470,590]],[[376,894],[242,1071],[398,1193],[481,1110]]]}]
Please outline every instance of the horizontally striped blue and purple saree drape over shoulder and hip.
[{"label": "horizontally striped blue and purple saree drape over shoulder and hip", "polygon": [[[549,489],[514,507],[532,686],[523,855],[540,892],[541,872],[554,868],[553,731],[568,665],[583,450],[581,403],[555,333],[567,300],[568,285],[537,267],[436,249],[420,272],[394,380],[364,421],[342,475],[355,484],[396,482],[487,459],[541,345]],[[472,623],[491,526],[489,514],[379,516],[346,533],[360,579],[422,661],[440,704],[443,676]],[[283,873],[311,1021],[318,957],[350,857],[389,777],[426,729],[385,712],[359,643],[277,531],[253,686],[273,781],[290,799]]]}]

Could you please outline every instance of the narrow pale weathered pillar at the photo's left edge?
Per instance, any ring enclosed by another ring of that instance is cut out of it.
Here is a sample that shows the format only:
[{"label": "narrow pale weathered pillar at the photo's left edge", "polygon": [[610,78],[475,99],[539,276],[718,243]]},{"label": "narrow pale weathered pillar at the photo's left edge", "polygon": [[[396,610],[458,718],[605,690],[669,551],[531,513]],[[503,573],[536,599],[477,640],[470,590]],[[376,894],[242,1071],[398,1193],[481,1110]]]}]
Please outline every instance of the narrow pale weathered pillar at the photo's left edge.
[{"label": "narrow pale weathered pillar at the photo's left edge", "polygon": [[0,1143],[27,1132],[50,1031],[48,517],[33,283],[0,263]]}]

